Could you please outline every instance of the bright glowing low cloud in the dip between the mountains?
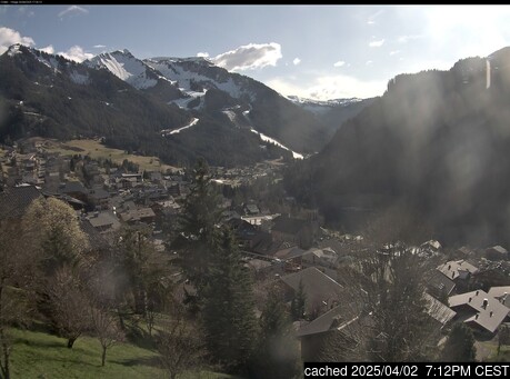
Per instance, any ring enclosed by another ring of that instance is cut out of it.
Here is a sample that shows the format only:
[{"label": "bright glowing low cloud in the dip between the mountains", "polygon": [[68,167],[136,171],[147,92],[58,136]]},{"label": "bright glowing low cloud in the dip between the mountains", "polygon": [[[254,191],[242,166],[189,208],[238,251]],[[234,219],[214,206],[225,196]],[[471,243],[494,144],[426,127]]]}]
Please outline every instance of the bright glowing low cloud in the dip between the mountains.
[{"label": "bright glowing low cloud in the dip between the mountains", "polygon": [[387,89],[386,80],[362,81],[349,76],[318,77],[308,86],[302,84],[302,81],[291,81],[288,78],[276,78],[264,83],[284,96],[296,94],[316,100],[371,98],[382,96]]}]

